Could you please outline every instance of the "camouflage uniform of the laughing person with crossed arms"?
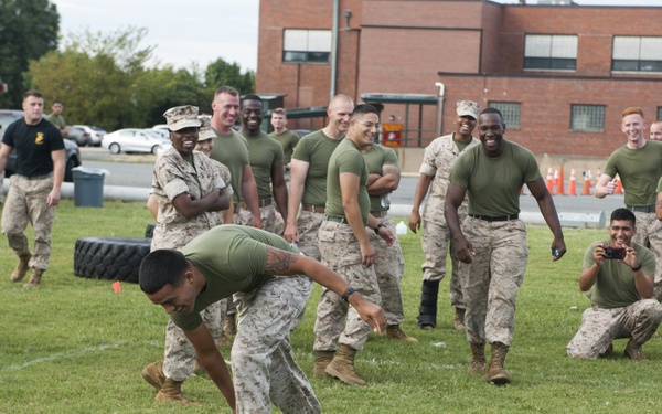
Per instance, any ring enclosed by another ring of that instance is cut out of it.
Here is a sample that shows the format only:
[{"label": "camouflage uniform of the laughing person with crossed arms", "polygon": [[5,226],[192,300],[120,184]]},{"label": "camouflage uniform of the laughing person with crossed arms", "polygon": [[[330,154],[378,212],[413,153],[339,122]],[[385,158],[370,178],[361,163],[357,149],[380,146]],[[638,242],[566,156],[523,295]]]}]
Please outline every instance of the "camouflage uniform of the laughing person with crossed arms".
[{"label": "camouflage uniform of the laughing person with crossed arms", "polygon": [[[152,188],[159,201],[159,214],[151,250],[180,248],[195,236],[221,224],[218,212],[204,212],[192,219],[184,219],[172,205],[171,200],[183,192],[200,199],[217,188],[226,188],[220,179],[218,167],[205,155],[193,152],[193,168],[180,153],[170,148],[154,166]],[[223,317],[226,300],[220,300],[201,311],[201,316],[215,341],[223,333]],[[185,333],[172,320],[166,329],[166,353],[163,373],[173,381],[185,381],[191,376],[195,349]]]}]

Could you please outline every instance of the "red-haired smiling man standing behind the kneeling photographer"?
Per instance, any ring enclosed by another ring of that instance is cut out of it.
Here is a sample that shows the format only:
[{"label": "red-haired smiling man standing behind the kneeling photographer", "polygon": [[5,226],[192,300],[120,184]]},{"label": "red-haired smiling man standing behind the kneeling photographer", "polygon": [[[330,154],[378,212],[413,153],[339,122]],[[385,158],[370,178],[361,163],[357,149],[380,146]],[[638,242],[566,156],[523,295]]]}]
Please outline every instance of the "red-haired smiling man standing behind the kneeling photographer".
[{"label": "red-haired smiling man standing behind the kneeling photographer", "polygon": [[655,255],[655,293],[662,299],[662,223],[655,215],[658,181],[662,177],[662,142],[647,141],[643,112],[630,107],[621,114],[621,131],[627,137],[624,146],[609,156],[602,176],[596,183],[596,197],[602,199],[616,191],[618,174],[626,192],[626,208],[637,217],[634,241],[650,246]]}]

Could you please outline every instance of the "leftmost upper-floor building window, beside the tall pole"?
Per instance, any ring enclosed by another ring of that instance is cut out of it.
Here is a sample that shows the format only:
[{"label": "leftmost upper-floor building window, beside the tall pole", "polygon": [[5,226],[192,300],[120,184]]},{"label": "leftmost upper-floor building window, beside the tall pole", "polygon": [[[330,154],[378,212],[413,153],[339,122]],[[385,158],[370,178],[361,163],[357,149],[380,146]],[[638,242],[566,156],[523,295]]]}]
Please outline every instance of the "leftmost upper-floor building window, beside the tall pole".
[{"label": "leftmost upper-floor building window, beside the tall pole", "polygon": [[282,40],[284,62],[329,62],[331,31],[286,29]]}]

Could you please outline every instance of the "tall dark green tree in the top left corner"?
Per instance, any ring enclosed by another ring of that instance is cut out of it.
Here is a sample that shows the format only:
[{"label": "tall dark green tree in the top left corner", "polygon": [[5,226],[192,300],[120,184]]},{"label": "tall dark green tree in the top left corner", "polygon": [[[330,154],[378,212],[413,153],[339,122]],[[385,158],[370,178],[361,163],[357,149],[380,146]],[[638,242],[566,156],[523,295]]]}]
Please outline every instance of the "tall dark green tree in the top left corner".
[{"label": "tall dark green tree in the top left corner", "polygon": [[47,0],[0,0],[0,78],[9,92],[0,107],[20,108],[29,61],[57,49],[60,14]]}]

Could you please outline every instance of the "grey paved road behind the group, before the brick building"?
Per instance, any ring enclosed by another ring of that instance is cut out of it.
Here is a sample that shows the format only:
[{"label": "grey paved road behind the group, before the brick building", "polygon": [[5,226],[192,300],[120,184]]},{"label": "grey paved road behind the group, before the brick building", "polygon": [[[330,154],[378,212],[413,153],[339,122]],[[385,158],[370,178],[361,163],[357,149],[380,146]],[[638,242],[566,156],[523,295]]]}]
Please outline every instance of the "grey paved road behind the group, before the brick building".
[{"label": "grey paved road behind the group, before the brick building", "polygon": [[[149,188],[154,156],[120,155],[113,156],[102,148],[82,148],[83,164],[86,168],[99,168],[110,172],[105,177],[104,184]],[[418,177],[403,177],[399,188],[392,194],[392,204],[412,204]],[[623,206],[623,195],[610,195],[597,199],[591,195],[554,195],[554,203],[560,213],[599,213],[605,211],[607,216]],[[522,211],[537,212],[537,203],[531,195],[520,199]]]}]

